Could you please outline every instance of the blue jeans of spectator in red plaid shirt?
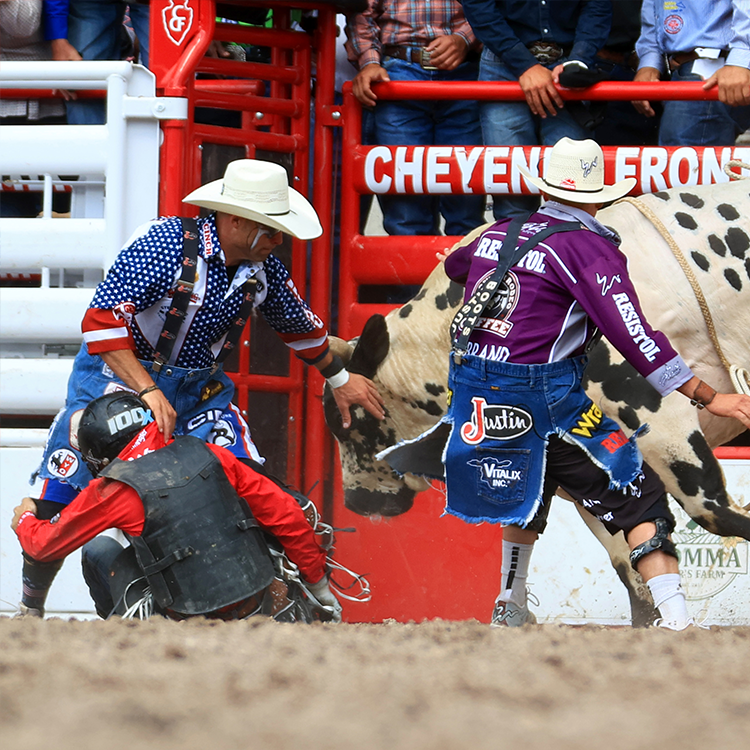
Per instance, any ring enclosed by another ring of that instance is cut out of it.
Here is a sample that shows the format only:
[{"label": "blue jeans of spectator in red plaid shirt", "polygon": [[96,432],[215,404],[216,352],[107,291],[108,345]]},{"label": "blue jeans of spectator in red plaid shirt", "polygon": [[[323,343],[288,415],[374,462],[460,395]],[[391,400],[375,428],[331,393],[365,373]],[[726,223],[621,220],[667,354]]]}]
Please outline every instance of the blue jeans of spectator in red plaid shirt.
[{"label": "blue jeans of spectator in red plaid shirt", "polygon": [[[477,67],[465,62],[455,70],[425,70],[416,63],[386,57],[392,81],[471,81]],[[381,101],[375,107],[375,142],[383,146],[481,146],[476,101]],[[388,234],[464,235],[484,223],[483,195],[381,195]]]}]

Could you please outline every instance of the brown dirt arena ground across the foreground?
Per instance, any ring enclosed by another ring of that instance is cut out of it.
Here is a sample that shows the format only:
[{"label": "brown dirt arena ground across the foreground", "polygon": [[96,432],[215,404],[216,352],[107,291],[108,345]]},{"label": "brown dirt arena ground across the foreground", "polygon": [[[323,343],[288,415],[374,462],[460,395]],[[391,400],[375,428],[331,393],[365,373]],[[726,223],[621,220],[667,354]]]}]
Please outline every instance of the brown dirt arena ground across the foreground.
[{"label": "brown dirt arena ground across the foreground", "polygon": [[692,750],[749,736],[750,628],[0,618],[7,750]]}]

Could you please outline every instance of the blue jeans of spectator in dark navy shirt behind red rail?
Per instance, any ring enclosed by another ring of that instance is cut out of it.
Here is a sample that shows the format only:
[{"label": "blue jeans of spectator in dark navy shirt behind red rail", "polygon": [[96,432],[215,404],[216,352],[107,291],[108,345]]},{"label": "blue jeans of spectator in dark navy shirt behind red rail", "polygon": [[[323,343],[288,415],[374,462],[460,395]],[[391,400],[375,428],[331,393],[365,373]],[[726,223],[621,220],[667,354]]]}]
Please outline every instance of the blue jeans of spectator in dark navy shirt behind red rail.
[{"label": "blue jeans of spectator in dark navy shirt behind red rail", "polygon": [[[562,62],[562,61],[560,61]],[[557,64],[557,63],[555,63]],[[510,69],[486,47],[479,63],[480,81],[518,81]],[[591,138],[566,109],[546,118],[531,114],[526,102],[482,102],[479,106],[485,146],[554,146],[561,138]],[[493,196],[495,219],[526,216],[539,207],[536,196]]]}]

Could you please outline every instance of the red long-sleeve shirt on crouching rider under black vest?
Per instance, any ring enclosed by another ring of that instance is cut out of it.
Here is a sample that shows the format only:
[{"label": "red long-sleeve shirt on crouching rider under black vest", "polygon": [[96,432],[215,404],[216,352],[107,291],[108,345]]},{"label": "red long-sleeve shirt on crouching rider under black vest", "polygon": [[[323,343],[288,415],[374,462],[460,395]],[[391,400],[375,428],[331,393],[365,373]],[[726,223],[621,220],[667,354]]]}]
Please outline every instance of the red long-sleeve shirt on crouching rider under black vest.
[{"label": "red long-sleeve shirt on crouching rider under black vest", "polygon": [[[164,447],[156,422],[146,426],[120,454],[135,460]],[[325,552],[315,540],[302,508],[267,477],[253,471],[233,454],[209,445],[237,494],[247,501],[260,526],[284,547],[305,580],[317,583],[325,573]],[[130,536],[143,532],[143,503],[134,489],[102,477],[93,480],[78,497],[51,521],[24,513],[16,528],[24,551],[35,560],[59,560],[82,547],[107,529],[120,529]]]}]

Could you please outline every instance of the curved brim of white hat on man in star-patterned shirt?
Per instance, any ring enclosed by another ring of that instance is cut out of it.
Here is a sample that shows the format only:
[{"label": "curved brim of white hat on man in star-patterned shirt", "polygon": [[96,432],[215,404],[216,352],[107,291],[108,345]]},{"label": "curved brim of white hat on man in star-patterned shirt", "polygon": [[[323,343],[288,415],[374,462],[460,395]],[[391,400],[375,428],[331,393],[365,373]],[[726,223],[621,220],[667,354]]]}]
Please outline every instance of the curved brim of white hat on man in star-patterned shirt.
[{"label": "curved brim of white hat on man in star-patterned shirt", "polygon": [[222,211],[234,216],[252,219],[282,232],[287,232],[299,240],[314,240],[323,234],[315,209],[307,198],[294,188],[289,188],[289,211],[284,214],[265,214],[254,209],[247,201],[234,200],[222,195],[224,180],[214,180],[193,190],[190,195],[182,199],[183,203],[208,208],[212,211]]}]

